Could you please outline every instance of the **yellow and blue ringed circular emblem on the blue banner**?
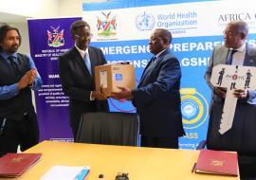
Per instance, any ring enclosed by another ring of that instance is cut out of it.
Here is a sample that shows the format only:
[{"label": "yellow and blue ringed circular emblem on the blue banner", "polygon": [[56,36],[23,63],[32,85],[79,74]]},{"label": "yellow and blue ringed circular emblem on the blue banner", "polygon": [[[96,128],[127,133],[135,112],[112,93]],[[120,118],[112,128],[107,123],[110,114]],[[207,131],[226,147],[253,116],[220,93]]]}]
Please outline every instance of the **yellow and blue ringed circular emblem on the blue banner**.
[{"label": "yellow and blue ringed circular emblem on the blue banner", "polygon": [[185,129],[194,129],[201,126],[209,115],[207,99],[195,88],[180,90],[182,122]]}]

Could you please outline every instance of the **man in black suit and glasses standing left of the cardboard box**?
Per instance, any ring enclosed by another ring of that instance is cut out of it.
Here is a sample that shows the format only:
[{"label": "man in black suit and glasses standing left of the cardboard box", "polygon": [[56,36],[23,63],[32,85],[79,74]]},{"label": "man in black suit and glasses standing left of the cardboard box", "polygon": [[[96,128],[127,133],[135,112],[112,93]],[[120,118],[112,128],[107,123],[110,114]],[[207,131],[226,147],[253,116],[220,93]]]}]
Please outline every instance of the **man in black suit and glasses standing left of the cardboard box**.
[{"label": "man in black suit and glasses standing left of the cardboard box", "polygon": [[69,97],[70,126],[76,140],[83,113],[109,111],[107,98],[95,91],[94,67],[106,63],[100,48],[89,46],[89,25],[80,20],[71,25],[75,46],[59,56],[64,94]]}]

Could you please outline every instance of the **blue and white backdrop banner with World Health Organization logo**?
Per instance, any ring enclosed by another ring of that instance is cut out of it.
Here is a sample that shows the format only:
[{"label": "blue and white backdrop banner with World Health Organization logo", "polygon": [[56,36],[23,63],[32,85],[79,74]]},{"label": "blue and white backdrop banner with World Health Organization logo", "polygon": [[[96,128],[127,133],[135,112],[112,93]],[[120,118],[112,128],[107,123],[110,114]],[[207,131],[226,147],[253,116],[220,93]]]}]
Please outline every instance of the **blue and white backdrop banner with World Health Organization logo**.
[{"label": "blue and white backdrop banner with World Health Organization logo", "polygon": [[[223,44],[222,32],[227,23],[246,21],[250,29],[248,44],[255,45],[256,38],[255,9],[249,7],[249,3],[235,4],[233,1],[84,3],[83,19],[94,34],[92,45],[101,47],[108,63],[133,63],[137,81],[152,57],[148,49],[152,31],[166,28],[172,32],[171,50],[182,68],[181,108],[186,131],[179,142],[182,149],[195,149],[198,142],[206,139],[211,92],[204,73],[213,47]],[[136,111],[127,101],[110,99],[110,104],[112,111]]]}]

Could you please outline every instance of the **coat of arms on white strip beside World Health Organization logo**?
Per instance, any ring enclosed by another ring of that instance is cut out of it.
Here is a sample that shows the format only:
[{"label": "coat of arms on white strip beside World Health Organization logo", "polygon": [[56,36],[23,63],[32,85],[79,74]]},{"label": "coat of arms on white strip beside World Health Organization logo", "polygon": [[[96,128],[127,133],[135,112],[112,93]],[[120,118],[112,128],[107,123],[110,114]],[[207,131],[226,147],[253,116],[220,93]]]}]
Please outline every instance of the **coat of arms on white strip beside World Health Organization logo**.
[{"label": "coat of arms on white strip beside World Health Organization logo", "polygon": [[105,14],[101,12],[103,18],[98,18],[97,28],[99,36],[115,36],[117,34],[117,20],[116,16],[110,17],[110,13]]}]

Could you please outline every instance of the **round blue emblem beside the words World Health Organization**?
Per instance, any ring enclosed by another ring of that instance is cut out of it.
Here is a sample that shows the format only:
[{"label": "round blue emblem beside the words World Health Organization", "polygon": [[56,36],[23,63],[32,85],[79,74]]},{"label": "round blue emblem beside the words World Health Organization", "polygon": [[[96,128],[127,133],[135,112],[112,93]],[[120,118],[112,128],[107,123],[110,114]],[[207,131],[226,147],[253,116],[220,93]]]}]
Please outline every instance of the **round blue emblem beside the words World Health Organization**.
[{"label": "round blue emblem beside the words World Health Organization", "polygon": [[155,17],[146,12],[137,15],[136,27],[138,30],[152,30],[155,27]]}]

